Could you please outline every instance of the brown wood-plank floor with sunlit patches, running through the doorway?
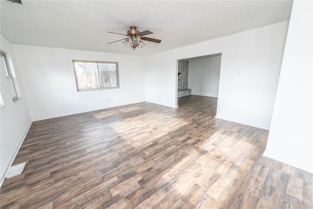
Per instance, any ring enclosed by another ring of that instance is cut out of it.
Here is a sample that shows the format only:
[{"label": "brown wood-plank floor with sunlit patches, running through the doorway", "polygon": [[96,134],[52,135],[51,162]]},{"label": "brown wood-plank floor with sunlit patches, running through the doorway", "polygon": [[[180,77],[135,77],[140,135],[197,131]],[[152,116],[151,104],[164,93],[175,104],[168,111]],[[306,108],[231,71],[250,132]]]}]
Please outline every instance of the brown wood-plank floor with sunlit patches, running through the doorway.
[{"label": "brown wood-plank floor with sunlit patches, running through the doorway", "polygon": [[313,174],[262,157],[268,131],[179,97],[33,122],[1,208],[311,209]]}]

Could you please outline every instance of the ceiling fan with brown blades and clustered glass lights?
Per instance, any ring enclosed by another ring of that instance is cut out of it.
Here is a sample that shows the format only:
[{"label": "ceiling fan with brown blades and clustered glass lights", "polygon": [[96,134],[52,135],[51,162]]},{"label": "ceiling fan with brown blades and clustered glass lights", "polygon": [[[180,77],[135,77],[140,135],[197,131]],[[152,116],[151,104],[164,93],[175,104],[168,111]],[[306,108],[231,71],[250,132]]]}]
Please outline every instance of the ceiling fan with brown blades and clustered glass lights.
[{"label": "ceiling fan with brown blades and clustered glass lights", "polygon": [[[108,32],[108,33],[114,33],[114,32]],[[140,32],[139,30],[136,30],[135,26],[131,26],[131,29],[127,31],[127,35],[122,34],[122,33],[115,33],[115,34],[128,36],[128,38],[121,39],[121,40],[114,41],[114,42],[110,42],[108,44],[112,44],[112,43],[124,40],[122,43],[125,46],[129,46],[129,47],[133,48],[133,50],[135,50],[135,48],[137,48],[139,46],[141,46],[141,47],[145,46],[145,43],[143,43],[143,41],[154,42],[154,43],[158,43],[158,44],[161,42],[161,40],[159,40],[159,39],[143,37],[146,35],[153,34],[153,32],[151,32],[149,30],[145,30],[145,31]]]}]

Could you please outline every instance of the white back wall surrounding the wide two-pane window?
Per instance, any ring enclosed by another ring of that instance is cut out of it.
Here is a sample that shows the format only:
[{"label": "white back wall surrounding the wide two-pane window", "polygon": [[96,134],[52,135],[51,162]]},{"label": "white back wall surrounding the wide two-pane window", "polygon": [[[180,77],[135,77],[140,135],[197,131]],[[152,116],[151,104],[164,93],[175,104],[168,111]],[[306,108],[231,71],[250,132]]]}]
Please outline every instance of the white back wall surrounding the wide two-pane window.
[{"label": "white back wall surrounding the wide two-pane window", "polygon": [[[13,45],[33,120],[145,101],[142,57]],[[120,88],[77,92],[72,60],[118,62]]]}]

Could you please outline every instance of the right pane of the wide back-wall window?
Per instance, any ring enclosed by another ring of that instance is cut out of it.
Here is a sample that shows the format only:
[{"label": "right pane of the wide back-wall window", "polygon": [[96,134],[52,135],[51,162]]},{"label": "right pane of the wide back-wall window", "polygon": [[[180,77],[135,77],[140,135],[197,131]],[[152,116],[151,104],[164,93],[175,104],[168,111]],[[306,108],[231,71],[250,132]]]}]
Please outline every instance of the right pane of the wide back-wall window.
[{"label": "right pane of the wide back-wall window", "polygon": [[117,87],[116,64],[98,63],[101,87]]}]

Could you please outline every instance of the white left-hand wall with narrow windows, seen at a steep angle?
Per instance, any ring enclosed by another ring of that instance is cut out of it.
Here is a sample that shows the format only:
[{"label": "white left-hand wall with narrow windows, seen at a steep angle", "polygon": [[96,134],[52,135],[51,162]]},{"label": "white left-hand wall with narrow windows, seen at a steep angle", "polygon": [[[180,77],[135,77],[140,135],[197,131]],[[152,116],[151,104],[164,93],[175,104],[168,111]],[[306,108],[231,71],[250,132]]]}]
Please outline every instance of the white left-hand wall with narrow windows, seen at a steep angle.
[{"label": "white left-hand wall with narrow windows, seen at a steep angle", "polygon": [[6,170],[13,163],[18,149],[22,144],[22,140],[31,124],[14,51],[11,43],[2,35],[1,51],[7,53],[15,87],[18,96],[22,99],[15,103],[12,101],[4,69],[0,69],[0,92],[5,105],[0,109],[0,184],[3,181]]}]

